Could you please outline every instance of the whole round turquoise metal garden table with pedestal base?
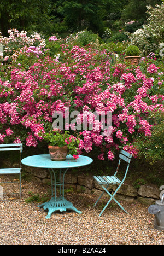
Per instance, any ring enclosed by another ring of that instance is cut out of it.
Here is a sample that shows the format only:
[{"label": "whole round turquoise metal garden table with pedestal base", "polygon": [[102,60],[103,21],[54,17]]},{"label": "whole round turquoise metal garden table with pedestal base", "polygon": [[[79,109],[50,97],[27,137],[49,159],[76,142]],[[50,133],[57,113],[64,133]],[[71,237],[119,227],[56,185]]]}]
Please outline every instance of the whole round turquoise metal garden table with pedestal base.
[{"label": "whole round turquoise metal garden table with pedestal base", "polygon": [[[81,213],[73,206],[73,204],[67,201],[64,197],[64,179],[65,174],[69,168],[75,168],[80,166],[85,166],[91,164],[93,160],[87,156],[79,155],[79,158],[75,160],[72,156],[67,155],[66,161],[52,161],[49,154],[42,155],[32,155],[27,158],[22,159],[22,164],[37,167],[37,168],[47,168],[51,175],[51,191],[52,197],[49,202],[42,203],[38,207],[43,207],[44,210],[48,210],[48,215],[46,219],[51,217],[51,214],[57,210],[60,212],[66,211],[67,209],[73,210],[77,213]],[[56,180],[55,169],[59,170],[59,178]],[[63,176],[62,174],[63,170]],[[62,176],[62,177],[61,177]],[[56,196],[56,186],[59,187],[60,195]],[[62,187],[62,188],[61,188]]]}]

